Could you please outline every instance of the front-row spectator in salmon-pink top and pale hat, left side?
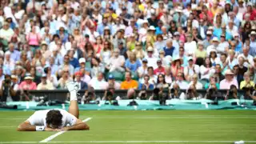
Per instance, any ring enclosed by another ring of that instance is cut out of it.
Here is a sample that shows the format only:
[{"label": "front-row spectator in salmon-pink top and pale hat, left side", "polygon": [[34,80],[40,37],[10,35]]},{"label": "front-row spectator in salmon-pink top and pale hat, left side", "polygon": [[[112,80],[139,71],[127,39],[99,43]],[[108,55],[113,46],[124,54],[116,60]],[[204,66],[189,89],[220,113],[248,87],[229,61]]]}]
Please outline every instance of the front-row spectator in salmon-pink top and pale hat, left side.
[{"label": "front-row spectator in salmon-pink top and pale hat, left side", "polygon": [[37,84],[33,82],[33,78],[30,74],[27,74],[24,78],[24,81],[19,84],[18,86],[19,90],[36,90]]}]

